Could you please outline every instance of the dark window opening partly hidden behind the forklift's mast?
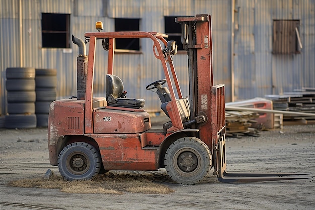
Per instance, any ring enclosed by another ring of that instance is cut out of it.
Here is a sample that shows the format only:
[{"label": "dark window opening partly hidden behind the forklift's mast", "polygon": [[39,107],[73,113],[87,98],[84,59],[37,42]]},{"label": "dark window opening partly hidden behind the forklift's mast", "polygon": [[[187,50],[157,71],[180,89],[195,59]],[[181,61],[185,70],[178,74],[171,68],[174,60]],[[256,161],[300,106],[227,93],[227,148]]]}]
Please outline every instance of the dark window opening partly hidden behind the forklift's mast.
[{"label": "dark window opening partly hidden behind the forklift's mast", "polygon": [[164,17],[165,34],[169,35],[169,37],[166,38],[166,40],[167,41],[174,40],[177,45],[177,50],[184,50],[181,41],[182,36],[181,24],[175,22],[175,18],[178,17],[179,16]]}]

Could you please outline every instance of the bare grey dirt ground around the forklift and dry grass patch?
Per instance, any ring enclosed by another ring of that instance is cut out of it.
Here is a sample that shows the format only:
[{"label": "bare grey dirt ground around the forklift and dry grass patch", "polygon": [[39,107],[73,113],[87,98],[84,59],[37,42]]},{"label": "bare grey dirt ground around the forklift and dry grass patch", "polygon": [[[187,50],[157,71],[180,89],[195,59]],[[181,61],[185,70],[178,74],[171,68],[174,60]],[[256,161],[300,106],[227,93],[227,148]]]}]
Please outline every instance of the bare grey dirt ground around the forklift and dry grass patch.
[{"label": "bare grey dirt ground around the forklift and dry grass patch", "polygon": [[[315,126],[284,126],[260,137],[227,139],[229,171],[315,172]],[[154,182],[171,194],[67,194],[58,189],[9,187],[9,181],[42,177],[58,169],[48,160],[47,128],[0,129],[0,209],[314,209],[315,181],[301,179],[264,183],[223,184],[212,173],[200,184]],[[213,169],[212,169],[213,170]],[[125,171],[146,176],[151,172]],[[161,179],[159,178],[161,174]],[[313,176],[313,174],[311,175]]]}]

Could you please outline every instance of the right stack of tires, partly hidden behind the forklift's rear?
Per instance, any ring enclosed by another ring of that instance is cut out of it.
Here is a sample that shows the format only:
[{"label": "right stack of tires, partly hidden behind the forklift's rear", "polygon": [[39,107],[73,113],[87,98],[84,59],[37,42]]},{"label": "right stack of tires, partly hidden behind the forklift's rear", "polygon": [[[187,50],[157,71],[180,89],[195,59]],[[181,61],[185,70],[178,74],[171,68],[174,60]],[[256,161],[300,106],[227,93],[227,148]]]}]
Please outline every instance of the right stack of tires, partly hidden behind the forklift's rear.
[{"label": "right stack of tires, partly hidden behind the forklift's rear", "polygon": [[57,70],[35,69],[37,127],[48,126],[50,103],[56,100]]}]

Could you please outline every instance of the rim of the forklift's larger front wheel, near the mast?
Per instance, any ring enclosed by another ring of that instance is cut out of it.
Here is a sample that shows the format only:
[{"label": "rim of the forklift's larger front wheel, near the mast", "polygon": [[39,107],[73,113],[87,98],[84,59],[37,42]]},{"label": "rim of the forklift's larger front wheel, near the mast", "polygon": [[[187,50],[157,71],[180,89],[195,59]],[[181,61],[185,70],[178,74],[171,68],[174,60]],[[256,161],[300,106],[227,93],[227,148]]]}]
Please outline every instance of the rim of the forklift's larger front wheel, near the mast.
[{"label": "rim of the forklift's larger front wheel, near the mast", "polygon": [[193,176],[200,168],[200,155],[192,148],[183,148],[175,153],[173,165],[182,176]]}]

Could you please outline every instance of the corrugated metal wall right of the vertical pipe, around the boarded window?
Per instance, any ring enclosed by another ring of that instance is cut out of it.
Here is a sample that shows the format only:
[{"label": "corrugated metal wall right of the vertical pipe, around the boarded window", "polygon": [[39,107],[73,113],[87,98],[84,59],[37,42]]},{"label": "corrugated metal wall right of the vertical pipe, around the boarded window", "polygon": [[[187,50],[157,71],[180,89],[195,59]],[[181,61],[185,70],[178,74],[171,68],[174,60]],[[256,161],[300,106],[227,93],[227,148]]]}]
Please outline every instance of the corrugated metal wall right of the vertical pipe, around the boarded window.
[{"label": "corrugated metal wall right of the vertical pipe, around the boarded window", "polygon": [[[315,1],[237,0],[235,96],[247,99],[315,87]],[[272,54],[273,20],[300,20],[300,54]]]}]

